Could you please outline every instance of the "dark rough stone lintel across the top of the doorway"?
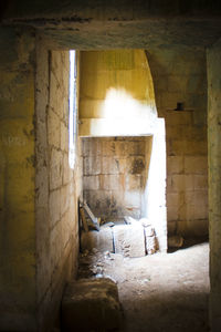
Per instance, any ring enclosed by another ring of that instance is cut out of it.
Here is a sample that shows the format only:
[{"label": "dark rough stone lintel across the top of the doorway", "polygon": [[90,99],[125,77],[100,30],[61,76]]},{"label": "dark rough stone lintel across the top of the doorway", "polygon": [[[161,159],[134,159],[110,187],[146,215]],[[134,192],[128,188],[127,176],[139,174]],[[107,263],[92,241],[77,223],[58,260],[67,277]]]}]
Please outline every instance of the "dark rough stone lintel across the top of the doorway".
[{"label": "dark rough stone lintel across the top of the doorway", "polygon": [[3,22],[45,29],[55,46],[210,45],[221,33],[218,0],[1,1]]}]

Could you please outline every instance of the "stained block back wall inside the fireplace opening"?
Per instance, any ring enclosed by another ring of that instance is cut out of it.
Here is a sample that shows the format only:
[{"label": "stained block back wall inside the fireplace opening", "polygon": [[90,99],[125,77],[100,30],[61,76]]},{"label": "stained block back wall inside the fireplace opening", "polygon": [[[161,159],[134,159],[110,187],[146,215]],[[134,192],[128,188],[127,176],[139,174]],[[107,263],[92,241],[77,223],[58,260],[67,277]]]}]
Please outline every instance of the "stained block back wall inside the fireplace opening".
[{"label": "stained block back wall inside the fireplace opening", "polygon": [[103,220],[144,217],[151,137],[82,138],[84,199]]}]

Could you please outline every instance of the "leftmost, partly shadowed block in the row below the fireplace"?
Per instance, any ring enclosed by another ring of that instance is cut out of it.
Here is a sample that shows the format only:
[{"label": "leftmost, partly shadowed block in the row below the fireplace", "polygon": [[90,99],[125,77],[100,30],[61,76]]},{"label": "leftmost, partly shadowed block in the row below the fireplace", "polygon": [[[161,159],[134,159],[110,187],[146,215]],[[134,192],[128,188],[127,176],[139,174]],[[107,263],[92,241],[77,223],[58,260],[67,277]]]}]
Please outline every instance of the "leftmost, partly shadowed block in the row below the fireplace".
[{"label": "leftmost, partly shadowed block in the row below the fireplace", "polygon": [[114,252],[112,228],[101,228],[99,231],[91,230],[81,235],[82,250],[92,250]]}]

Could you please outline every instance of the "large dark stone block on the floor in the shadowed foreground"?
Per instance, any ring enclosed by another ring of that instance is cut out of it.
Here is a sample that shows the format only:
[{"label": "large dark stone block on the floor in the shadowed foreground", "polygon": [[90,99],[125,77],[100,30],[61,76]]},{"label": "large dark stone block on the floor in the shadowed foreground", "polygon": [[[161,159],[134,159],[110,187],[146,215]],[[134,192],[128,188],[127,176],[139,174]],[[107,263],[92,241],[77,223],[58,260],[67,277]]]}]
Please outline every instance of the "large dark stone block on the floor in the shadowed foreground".
[{"label": "large dark stone block on the floor in the shadowed foreground", "polygon": [[116,283],[107,278],[67,284],[62,300],[62,331],[119,331],[123,312]]}]

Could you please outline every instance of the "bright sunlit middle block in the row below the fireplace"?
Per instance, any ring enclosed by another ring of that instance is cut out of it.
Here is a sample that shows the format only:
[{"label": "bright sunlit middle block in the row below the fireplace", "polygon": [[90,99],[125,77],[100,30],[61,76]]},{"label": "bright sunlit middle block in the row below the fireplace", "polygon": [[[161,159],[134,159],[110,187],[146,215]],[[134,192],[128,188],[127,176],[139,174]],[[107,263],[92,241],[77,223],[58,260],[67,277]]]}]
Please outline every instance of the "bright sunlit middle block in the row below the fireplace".
[{"label": "bright sunlit middle block in the row below the fireplace", "polygon": [[145,256],[144,227],[140,225],[118,225],[113,228],[116,253],[125,257]]}]

